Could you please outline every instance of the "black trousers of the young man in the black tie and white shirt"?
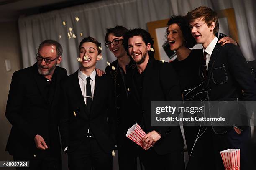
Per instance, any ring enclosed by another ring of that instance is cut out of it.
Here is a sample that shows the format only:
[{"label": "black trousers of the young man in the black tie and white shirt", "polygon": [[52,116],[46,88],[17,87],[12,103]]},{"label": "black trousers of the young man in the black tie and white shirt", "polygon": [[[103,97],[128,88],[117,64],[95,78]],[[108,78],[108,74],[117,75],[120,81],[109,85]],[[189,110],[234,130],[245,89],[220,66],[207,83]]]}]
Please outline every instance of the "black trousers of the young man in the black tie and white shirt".
[{"label": "black trousers of the young man in the black tie and white shirt", "polygon": [[105,153],[92,137],[84,137],[84,141],[72,152],[68,152],[69,170],[112,170],[111,152]]}]

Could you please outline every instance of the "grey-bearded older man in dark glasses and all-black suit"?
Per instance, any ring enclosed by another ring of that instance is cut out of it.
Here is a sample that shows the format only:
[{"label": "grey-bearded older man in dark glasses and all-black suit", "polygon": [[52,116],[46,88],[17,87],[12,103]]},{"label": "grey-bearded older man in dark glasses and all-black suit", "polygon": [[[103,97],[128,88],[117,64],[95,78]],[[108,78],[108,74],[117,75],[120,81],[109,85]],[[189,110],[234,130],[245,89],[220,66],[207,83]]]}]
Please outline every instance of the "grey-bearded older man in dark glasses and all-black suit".
[{"label": "grey-bearded older man in dark glasses and all-black suit", "polygon": [[33,170],[61,170],[59,99],[67,71],[61,62],[62,47],[43,41],[37,62],[13,73],[5,115],[12,124],[6,151],[14,161],[29,161]]}]

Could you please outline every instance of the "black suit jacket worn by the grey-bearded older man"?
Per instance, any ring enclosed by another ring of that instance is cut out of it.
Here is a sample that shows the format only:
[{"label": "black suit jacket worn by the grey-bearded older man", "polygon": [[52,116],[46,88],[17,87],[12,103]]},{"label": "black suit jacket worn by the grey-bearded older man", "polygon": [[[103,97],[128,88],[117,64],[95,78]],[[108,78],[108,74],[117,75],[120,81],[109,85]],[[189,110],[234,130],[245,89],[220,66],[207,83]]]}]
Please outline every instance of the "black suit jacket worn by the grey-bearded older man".
[{"label": "black suit jacket worn by the grey-bearded older man", "polygon": [[59,97],[61,80],[67,77],[66,69],[56,66],[56,88],[49,105],[39,83],[36,63],[13,73],[5,115],[12,124],[6,151],[16,157],[44,157],[46,151],[36,148],[34,137],[41,135],[48,150],[61,156],[59,141]]}]

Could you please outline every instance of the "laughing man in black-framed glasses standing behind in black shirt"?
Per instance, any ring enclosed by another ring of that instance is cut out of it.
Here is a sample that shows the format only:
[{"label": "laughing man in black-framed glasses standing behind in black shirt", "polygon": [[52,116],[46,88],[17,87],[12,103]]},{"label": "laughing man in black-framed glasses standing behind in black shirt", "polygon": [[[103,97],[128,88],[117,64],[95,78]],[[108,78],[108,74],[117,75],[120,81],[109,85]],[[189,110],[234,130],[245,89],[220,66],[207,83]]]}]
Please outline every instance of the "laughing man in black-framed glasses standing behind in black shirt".
[{"label": "laughing man in black-framed glasses standing behind in black shirt", "polygon": [[127,28],[116,26],[106,30],[105,46],[108,47],[117,58],[110,63],[110,66],[106,67],[106,74],[113,78],[115,112],[118,116],[118,163],[120,170],[131,170],[136,169],[137,165],[136,157],[131,156],[133,155],[133,150],[131,150],[129,146],[135,146],[136,144],[125,137],[127,130],[131,127],[131,121],[129,117],[127,117],[129,113],[125,109],[128,99],[125,76],[126,73],[134,69],[136,65],[127,55],[122,45],[123,36],[127,32]]}]

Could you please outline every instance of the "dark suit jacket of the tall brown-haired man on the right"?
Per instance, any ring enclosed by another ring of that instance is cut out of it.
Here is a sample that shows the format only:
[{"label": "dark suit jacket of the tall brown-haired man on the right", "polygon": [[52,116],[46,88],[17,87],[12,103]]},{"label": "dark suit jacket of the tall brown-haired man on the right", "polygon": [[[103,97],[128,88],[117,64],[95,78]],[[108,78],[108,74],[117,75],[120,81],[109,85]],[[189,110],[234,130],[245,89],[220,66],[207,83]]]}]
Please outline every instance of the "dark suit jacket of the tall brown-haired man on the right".
[{"label": "dark suit jacket of the tall brown-haired man on the right", "polygon": [[[202,68],[200,67],[200,69]],[[200,73],[202,73],[201,70]],[[202,74],[200,74],[200,76],[202,78]],[[207,86],[208,100],[256,100],[256,84],[251,76],[246,60],[240,48],[232,43],[225,44],[224,46],[221,46],[220,43],[216,44],[208,64],[207,80],[205,84]],[[244,91],[243,94],[242,90]],[[212,111],[216,112],[214,107]],[[241,117],[237,115],[234,117],[241,119]],[[217,133],[223,133],[228,131],[231,127],[232,126],[213,126],[212,128]],[[239,128],[244,129],[246,127]]]}]

